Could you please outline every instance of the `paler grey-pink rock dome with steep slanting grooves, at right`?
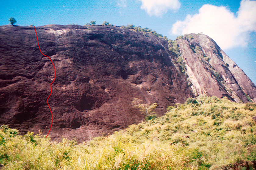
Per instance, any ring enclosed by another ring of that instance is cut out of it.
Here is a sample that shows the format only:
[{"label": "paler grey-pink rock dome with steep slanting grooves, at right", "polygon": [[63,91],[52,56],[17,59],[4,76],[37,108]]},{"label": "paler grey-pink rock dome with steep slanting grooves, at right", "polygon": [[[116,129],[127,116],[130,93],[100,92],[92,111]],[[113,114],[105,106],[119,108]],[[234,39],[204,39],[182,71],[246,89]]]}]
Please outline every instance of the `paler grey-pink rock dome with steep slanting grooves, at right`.
[{"label": "paler grey-pink rock dome with steep slanting grooves, at right", "polygon": [[203,34],[177,39],[183,64],[195,95],[228,97],[236,102],[256,102],[256,87],[213,41]]}]

